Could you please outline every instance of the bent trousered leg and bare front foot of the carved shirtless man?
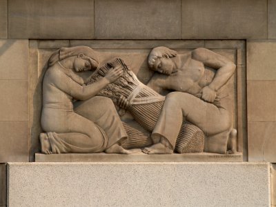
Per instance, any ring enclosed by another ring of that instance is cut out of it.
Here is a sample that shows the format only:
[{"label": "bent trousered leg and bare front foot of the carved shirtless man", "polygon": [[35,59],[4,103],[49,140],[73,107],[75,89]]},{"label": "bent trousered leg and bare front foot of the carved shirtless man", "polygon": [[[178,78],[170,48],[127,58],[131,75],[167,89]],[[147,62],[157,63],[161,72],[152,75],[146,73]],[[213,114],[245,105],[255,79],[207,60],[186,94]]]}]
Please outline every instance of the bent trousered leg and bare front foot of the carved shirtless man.
[{"label": "bent trousered leg and bare front foot of the carved shirtless man", "polygon": [[[226,110],[220,110],[214,104],[185,92],[171,92],[166,96],[161,115],[152,131],[152,138],[155,143],[158,142],[158,147],[153,145],[145,148],[144,152],[159,154],[167,153],[167,148],[173,150],[184,119],[203,130],[205,135],[217,135],[230,128]],[[161,140],[167,144],[162,144]]]}]

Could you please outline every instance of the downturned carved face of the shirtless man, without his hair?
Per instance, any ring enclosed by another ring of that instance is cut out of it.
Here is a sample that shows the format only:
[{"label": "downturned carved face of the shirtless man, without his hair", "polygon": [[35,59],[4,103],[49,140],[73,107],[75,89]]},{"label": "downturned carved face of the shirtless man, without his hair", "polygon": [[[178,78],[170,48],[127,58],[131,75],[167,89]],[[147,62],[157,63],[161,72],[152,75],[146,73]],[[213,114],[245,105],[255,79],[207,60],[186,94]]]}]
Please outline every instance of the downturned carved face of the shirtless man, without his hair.
[{"label": "downturned carved face of the shirtless man, without his hair", "polygon": [[153,64],[152,69],[165,75],[172,74],[173,63],[168,55],[158,57]]}]

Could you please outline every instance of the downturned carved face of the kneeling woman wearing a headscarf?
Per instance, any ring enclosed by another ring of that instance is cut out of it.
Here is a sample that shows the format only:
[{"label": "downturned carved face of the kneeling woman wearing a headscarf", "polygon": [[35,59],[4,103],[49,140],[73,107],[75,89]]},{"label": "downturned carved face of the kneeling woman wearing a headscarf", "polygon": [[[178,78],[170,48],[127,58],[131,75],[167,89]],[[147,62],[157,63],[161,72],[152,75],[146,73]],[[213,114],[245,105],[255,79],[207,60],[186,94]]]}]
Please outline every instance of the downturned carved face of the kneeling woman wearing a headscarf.
[{"label": "downturned carved face of the kneeling woman wearing a headscarf", "polygon": [[80,57],[76,57],[74,63],[73,63],[74,69],[76,72],[82,72],[86,70],[95,70],[98,67],[98,63],[91,59],[90,57],[87,57],[85,55],[81,55]]}]

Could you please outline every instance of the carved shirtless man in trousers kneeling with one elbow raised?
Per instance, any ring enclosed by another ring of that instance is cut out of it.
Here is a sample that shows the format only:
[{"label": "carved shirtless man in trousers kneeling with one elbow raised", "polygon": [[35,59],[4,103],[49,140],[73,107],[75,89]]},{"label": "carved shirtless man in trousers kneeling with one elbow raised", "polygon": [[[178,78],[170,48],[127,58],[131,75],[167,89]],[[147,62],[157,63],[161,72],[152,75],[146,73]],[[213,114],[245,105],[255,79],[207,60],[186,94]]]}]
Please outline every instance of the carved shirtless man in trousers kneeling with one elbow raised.
[{"label": "carved shirtless man in trousers kneeling with one elbow raised", "polygon": [[157,47],[150,52],[148,65],[159,72],[148,86],[162,95],[170,93],[152,131],[154,144],[143,151],[172,153],[185,119],[204,132],[207,152],[226,153],[230,138],[231,150],[235,153],[233,97],[226,87],[235,72],[235,64],[205,48],[179,55],[169,48]]}]

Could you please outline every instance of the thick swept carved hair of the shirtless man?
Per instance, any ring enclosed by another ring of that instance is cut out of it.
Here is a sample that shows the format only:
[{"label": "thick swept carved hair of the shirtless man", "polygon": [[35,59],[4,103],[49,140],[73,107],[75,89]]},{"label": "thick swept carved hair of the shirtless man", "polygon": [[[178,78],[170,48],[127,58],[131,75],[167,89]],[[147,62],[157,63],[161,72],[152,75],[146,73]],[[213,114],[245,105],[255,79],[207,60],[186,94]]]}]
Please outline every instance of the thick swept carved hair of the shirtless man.
[{"label": "thick swept carved hair of the shirtless man", "polygon": [[150,68],[153,67],[155,61],[160,58],[160,57],[164,57],[164,55],[168,55],[168,57],[176,57],[177,56],[177,51],[175,50],[170,50],[170,48],[166,48],[166,47],[157,47],[157,48],[153,48],[150,51],[150,54],[148,55],[148,66]]}]

